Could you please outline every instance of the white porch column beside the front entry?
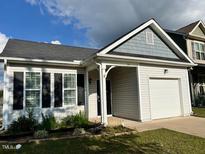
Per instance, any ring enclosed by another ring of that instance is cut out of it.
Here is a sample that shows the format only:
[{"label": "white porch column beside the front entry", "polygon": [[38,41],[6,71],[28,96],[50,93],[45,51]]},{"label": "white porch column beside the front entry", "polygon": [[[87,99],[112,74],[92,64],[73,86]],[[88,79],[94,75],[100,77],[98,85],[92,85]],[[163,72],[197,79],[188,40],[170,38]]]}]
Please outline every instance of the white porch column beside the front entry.
[{"label": "white porch column beside the front entry", "polygon": [[100,77],[100,101],[101,101],[101,123],[107,125],[107,96],[106,96],[106,65],[99,65]]}]

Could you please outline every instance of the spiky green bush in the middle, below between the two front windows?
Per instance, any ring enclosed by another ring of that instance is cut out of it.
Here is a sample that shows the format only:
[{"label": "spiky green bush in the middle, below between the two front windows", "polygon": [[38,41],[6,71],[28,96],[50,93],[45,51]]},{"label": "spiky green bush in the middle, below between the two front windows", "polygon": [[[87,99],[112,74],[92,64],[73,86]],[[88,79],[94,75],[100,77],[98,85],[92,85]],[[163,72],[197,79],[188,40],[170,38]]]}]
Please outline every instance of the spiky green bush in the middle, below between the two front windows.
[{"label": "spiky green bush in the middle, below between the two front windows", "polygon": [[56,129],[58,127],[58,123],[53,116],[53,114],[50,115],[43,115],[42,114],[42,122],[39,125],[39,130],[52,130]]}]

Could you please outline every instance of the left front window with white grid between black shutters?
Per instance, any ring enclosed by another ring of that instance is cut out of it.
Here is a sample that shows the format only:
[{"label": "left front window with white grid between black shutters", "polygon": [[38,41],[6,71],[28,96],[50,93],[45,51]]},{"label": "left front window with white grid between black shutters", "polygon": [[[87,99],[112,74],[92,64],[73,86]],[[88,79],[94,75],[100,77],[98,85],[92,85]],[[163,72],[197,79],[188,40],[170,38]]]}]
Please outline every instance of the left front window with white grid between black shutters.
[{"label": "left front window with white grid between black shutters", "polygon": [[26,72],[26,107],[40,107],[40,77],[39,72]]}]

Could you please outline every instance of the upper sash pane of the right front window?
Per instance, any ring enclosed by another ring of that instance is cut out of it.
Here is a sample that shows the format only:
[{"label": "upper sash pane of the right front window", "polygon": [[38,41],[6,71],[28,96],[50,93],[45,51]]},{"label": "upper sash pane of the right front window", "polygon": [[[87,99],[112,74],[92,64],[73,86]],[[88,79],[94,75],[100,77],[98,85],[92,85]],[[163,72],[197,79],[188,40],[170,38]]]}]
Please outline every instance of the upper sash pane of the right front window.
[{"label": "upper sash pane of the right front window", "polygon": [[65,74],[64,75],[64,88],[76,88],[76,75]]}]

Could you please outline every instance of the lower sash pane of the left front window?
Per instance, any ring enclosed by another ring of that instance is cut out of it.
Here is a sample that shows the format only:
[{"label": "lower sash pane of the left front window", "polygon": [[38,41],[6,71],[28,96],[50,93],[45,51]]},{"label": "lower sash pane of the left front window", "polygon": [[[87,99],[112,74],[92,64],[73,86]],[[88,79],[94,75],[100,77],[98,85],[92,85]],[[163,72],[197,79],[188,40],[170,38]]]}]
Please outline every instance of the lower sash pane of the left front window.
[{"label": "lower sash pane of the left front window", "polygon": [[26,107],[39,107],[40,90],[26,90]]}]

